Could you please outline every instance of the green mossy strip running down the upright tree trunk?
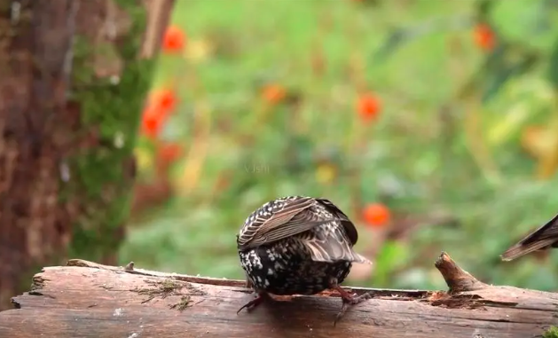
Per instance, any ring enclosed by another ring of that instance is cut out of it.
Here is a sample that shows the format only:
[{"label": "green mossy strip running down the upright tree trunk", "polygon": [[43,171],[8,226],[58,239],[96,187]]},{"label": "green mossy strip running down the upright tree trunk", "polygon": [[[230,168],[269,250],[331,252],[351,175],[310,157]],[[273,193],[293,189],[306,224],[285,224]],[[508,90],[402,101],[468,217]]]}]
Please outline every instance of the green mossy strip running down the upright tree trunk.
[{"label": "green mossy strip running down the upright tree trunk", "polygon": [[114,263],[122,241],[135,175],[133,147],[154,67],[153,58],[138,58],[146,18],[137,2],[80,4],[69,100],[80,114],[76,136],[90,138],[68,156],[75,178],[60,193],[75,204],[69,255]]}]

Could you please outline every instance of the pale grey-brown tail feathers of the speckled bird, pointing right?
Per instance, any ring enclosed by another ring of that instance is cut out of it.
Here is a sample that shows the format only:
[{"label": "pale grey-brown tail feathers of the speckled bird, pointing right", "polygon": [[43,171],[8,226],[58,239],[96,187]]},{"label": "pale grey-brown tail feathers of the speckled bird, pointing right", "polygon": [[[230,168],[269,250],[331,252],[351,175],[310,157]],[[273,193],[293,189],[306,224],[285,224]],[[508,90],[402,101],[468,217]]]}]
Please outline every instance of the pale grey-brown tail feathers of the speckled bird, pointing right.
[{"label": "pale grey-brown tail feathers of the speckled bird, pointing right", "polygon": [[336,262],[350,261],[354,263],[372,264],[362,255],[358,255],[350,244],[350,239],[345,228],[338,221],[333,221],[328,226],[322,226],[319,230],[301,234],[297,240],[310,250],[313,261]]}]

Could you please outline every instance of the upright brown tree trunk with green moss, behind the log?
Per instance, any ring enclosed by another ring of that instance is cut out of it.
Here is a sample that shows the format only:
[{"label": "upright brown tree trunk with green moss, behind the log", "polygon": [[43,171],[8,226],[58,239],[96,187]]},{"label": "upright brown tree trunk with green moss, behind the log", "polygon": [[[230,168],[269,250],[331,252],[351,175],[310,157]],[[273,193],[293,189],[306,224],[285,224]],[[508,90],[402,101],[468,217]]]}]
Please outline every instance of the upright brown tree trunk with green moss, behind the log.
[{"label": "upright brown tree trunk with green moss, behind the log", "polygon": [[37,266],[114,263],[172,4],[0,0],[0,308]]}]

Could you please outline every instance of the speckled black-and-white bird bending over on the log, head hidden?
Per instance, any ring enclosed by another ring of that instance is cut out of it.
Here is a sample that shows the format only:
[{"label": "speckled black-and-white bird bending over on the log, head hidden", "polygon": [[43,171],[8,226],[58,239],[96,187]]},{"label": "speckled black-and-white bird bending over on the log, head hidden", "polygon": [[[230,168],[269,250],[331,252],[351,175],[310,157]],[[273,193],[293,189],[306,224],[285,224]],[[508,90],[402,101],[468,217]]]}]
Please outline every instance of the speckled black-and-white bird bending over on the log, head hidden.
[{"label": "speckled black-and-white bird bending over on the log, head hidden", "polygon": [[331,200],[296,195],[265,202],[237,234],[246,286],[257,295],[237,314],[255,309],[270,295],[316,295],[331,289],[342,298],[336,325],[350,305],[372,298],[340,287],[353,263],[372,264],[353,250],[357,240],[355,224]]}]

